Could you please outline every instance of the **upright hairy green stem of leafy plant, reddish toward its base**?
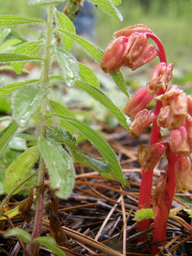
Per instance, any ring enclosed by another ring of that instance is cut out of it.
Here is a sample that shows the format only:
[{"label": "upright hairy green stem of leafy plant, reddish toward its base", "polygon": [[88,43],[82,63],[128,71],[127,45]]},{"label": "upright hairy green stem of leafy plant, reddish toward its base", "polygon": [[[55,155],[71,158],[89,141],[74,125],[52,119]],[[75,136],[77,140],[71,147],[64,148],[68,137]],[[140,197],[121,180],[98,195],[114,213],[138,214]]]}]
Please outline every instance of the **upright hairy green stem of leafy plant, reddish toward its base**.
[{"label": "upright hairy green stem of leafy plant, reddish toward its base", "polygon": [[[51,64],[51,42],[52,42],[52,25],[53,25],[53,14],[54,14],[54,5],[49,5],[47,9],[47,27],[46,27],[46,36],[45,36],[45,45],[44,45],[44,63],[42,68],[42,82],[41,86],[49,85],[49,71]],[[48,98],[44,97],[41,103],[41,111],[39,114],[39,135],[42,138],[46,138],[46,109],[48,104]],[[45,163],[40,156],[39,160],[39,170],[38,170],[38,188],[37,188],[37,201],[36,201],[36,212],[34,227],[32,232],[32,239],[38,237],[41,231],[42,225],[42,215],[43,215],[43,196],[44,196],[44,179],[45,179]]]}]

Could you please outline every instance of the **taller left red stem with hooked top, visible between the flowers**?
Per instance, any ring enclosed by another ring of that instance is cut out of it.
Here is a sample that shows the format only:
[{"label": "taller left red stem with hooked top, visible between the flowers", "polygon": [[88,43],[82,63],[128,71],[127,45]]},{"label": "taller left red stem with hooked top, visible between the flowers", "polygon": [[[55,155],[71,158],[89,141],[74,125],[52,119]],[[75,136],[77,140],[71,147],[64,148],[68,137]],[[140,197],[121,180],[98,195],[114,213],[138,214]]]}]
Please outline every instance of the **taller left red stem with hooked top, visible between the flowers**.
[{"label": "taller left red stem with hooked top, visible between the flowers", "polygon": [[[155,41],[156,45],[159,48],[159,59],[160,62],[165,62],[167,64],[166,56],[165,56],[165,49],[163,47],[162,42],[160,39],[153,33],[146,33],[147,38],[151,38]],[[161,95],[165,93],[163,89],[159,91],[157,95]],[[155,111],[159,114],[160,108],[162,107],[161,101],[157,101],[155,106]],[[160,141],[160,127],[157,126],[156,121],[152,124],[151,129],[151,137],[150,137],[150,144],[149,146],[158,143]],[[140,194],[139,194],[139,204],[138,209],[142,208],[150,208],[150,201],[151,201],[151,188],[152,188],[152,179],[153,179],[153,170],[148,170],[145,172],[144,168],[141,168],[141,185],[140,185]],[[149,228],[150,219],[146,219],[143,221],[139,221],[137,223],[137,230],[143,231]],[[144,241],[145,235],[138,239],[138,242]]]}]

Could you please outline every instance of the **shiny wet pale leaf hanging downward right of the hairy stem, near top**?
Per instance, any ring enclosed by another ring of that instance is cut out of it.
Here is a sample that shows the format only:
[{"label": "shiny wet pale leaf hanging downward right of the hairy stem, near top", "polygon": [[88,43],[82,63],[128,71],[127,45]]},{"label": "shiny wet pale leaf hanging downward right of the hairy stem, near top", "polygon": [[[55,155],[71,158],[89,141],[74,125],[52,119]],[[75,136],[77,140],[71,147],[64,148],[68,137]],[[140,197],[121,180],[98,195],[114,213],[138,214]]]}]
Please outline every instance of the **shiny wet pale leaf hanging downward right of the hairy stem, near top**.
[{"label": "shiny wet pale leaf hanging downward right of the hairy stem, near top", "polygon": [[66,85],[70,88],[78,78],[79,66],[77,60],[69,52],[56,47],[57,61]]}]

